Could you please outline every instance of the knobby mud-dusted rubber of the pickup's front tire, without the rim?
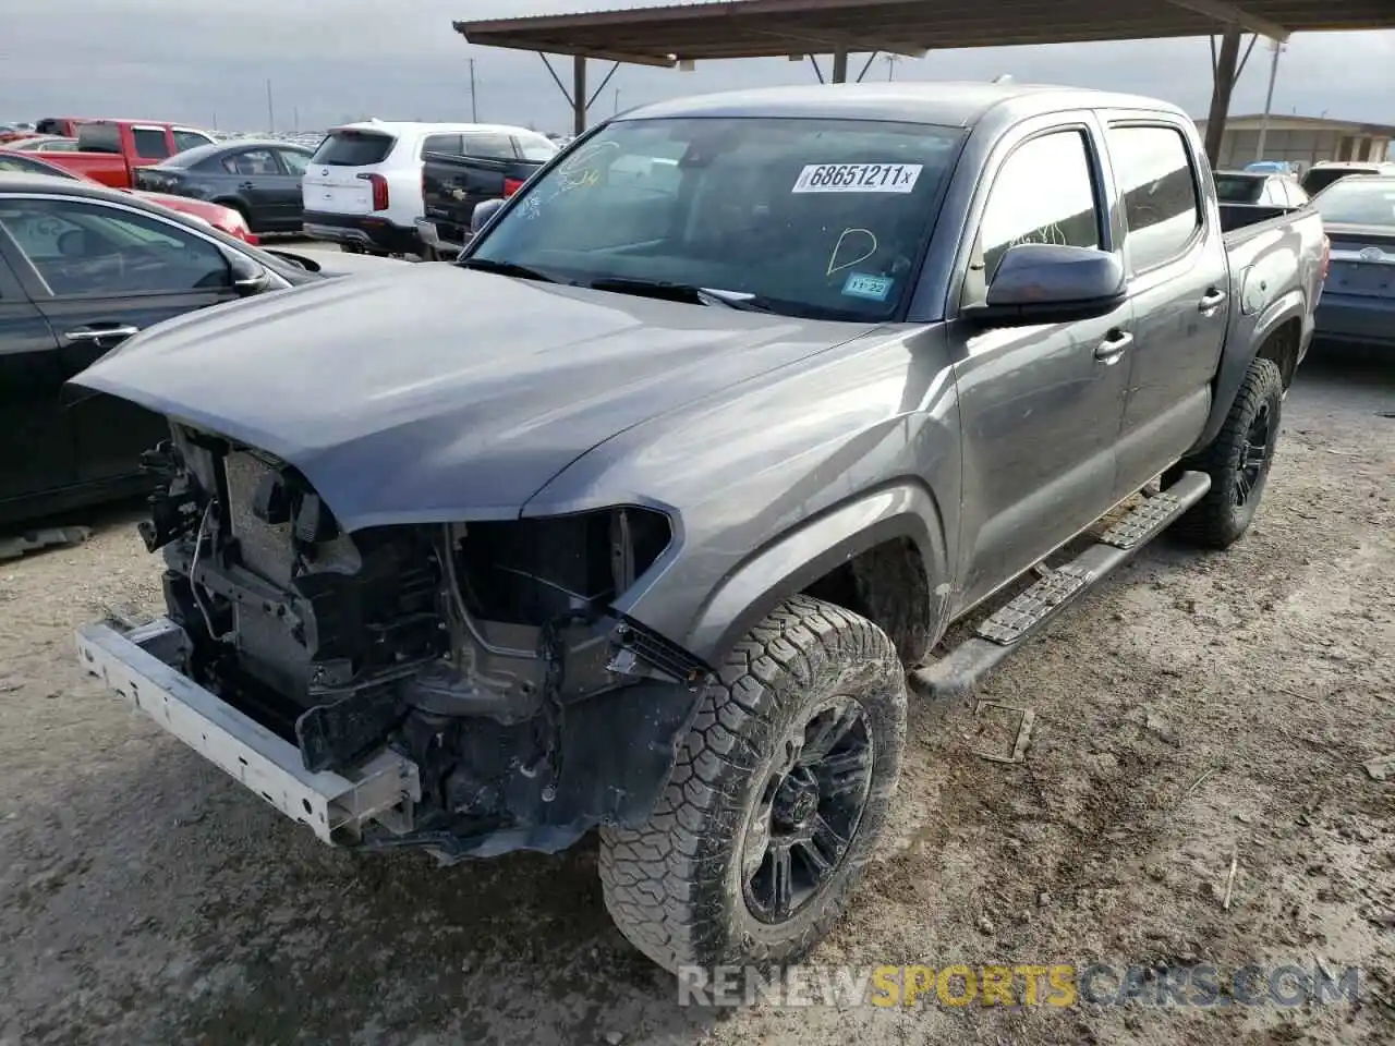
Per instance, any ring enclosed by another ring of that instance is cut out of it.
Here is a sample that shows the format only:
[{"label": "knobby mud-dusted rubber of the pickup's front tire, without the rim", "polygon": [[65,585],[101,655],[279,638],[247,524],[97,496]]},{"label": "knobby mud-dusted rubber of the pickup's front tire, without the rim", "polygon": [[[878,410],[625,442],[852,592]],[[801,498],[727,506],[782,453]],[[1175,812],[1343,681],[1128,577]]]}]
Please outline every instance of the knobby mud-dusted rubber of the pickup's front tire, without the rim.
[{"label": "knobby mud-dusted rubber of the pickup's front tire, without the rim", "polygon": [[[744,894],[746,826],[787,734],[834,696],[862,707],[873,750],[868,798],[824,888],[785,922],[760,922]],[[904,746],[905,672],[890,637],[841,607],[785,600],[735,644],[706,688],[647,824],[601,828],[605,908],[670,972],[798,961],[837,922],[862,877]]]}]

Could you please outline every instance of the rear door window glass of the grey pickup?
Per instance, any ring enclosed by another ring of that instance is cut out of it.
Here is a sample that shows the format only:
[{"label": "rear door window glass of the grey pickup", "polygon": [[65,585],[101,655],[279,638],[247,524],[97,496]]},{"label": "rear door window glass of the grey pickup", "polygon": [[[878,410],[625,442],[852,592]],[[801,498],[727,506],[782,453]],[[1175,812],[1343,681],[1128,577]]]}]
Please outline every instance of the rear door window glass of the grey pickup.
[{"label": "rear door window glass of the grey pickup", "polygon": [[1124,198],[1134,271],[1176,258],[1201,227],[1201,202],[1182,132],[1173,127],[1112,127],[1109,156]]}]

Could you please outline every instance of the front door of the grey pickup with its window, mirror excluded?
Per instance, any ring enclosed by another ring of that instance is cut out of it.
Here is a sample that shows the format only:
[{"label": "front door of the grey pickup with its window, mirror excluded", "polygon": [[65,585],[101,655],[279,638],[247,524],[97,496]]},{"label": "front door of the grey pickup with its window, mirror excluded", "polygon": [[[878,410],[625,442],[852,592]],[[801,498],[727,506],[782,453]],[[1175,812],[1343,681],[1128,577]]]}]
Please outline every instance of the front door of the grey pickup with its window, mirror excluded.
[{"label": "front door of the grey pickup with its window, mirror excluded", "polygon": [[[1112,250],[1089,119],[1023,130],[1006,146],[974,240],[963,301],[976,304],[1017,243]],[[1115,501],[1133,308],[1002,329],[951,326],[964,450],[957,609],[988,597]]]}]

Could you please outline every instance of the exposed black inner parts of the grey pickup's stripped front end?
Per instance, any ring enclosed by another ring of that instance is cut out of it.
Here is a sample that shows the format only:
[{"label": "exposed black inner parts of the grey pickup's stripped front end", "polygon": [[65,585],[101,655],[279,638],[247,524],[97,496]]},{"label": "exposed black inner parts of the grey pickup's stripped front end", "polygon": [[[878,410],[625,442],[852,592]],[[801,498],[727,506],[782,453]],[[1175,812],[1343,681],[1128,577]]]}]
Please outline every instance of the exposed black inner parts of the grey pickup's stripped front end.
[{"label": "exposed black inner parts of the grey pickup's stripped front end", "polygon": [[644,821],[710,672],[612,609],[671,544],[661,512],[350,534],[294,466],[222,437],[174,425],[146,467],[174,667],[307,774],[414,767],[420,798],[345,842],[455,859]]}]

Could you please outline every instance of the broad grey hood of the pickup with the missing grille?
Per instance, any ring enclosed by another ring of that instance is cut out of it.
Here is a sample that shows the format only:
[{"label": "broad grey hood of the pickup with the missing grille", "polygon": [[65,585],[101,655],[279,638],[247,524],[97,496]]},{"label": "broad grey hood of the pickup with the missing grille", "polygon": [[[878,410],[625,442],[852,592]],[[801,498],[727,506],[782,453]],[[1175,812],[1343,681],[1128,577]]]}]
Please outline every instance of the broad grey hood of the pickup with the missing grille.
[{"label": "broad grey hood of the pickup with the missing grille", "polygon": [[269,450],[359,530],[516,516],[611,435],[865,329],[421,264],[187,314],[73,381]]}]

